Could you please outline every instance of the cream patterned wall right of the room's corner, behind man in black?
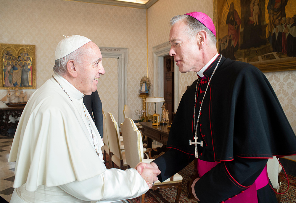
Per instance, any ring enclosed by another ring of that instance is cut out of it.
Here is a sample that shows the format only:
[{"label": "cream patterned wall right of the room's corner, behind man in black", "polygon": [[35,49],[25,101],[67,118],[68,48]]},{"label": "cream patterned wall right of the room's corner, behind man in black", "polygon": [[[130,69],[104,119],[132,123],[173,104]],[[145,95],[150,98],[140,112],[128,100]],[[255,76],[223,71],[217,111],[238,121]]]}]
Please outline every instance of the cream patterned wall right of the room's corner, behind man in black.
[{"label": "cream patterned wall right of the room's corner, behind man in black", "polygon": [[[159,0],[148,9],[148,77],[150,79],[153,80],[154,75],[152,47],[169,40],[168,22],[173,16],[192,11],[204,12],[213,19],[213,0]],[[264,74],[274,88],[292,129],[296,132],[296,70]],[[179,99],[185,92],[186,86],[191,85],[195,79],[197,76],[193,72],[180,73]],[[155,83],[156,81],[152,81],[152,84]],[[153,94],[153,87],[151,93]],[[150,109],[152,108],[149,108],[149,114],[151,114]]]}]

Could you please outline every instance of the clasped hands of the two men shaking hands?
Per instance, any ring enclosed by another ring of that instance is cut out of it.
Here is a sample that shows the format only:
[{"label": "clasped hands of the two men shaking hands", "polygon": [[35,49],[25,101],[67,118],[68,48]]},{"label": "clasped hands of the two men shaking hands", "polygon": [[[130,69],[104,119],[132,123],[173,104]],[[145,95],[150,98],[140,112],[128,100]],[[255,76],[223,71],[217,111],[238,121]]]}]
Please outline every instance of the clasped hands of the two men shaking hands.
[{"label": "clasped hands of the two men shaking hands", "polygon": [[135,169],[139,172],[142,178],[144,178],[149,188],[151,188],[155,181],[158,180],[157,175],[160,174],[160,170],[154,162],[151,162],[150,164],[140,162],[136,165]]}]

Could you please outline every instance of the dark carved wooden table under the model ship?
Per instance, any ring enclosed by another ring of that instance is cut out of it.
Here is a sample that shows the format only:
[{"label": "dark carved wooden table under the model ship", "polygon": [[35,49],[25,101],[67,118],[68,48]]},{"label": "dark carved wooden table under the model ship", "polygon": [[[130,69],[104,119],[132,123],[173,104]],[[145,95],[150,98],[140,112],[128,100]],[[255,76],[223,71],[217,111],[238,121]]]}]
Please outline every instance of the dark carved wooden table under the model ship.
[{"label": "dark carved wooden table under the model ship", "polygon": [[9,133],[9,129],[15,130],[17,128],[18,120],[13,123],[10,118],[17,119],[20,117],[24,107],[25,106],[0,108],[0,135],[8,136],[9,134],[14,134]]}]

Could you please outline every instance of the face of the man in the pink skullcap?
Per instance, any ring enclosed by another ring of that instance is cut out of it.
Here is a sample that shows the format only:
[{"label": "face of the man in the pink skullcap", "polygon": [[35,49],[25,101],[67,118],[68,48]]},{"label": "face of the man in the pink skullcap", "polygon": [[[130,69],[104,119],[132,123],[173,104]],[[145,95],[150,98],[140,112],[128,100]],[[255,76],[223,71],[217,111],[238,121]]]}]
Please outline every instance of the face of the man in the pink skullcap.
[{"label": "face of the man in the pink skullcap", "polygon": [[170,29],[170,55],[174,57],[176,65],[181,73],[189,71],[198,72],[202,67],[199,63],[200,49],[197,45],[197,38],[192,39],[186,32],[187,25],[179,20]]}]

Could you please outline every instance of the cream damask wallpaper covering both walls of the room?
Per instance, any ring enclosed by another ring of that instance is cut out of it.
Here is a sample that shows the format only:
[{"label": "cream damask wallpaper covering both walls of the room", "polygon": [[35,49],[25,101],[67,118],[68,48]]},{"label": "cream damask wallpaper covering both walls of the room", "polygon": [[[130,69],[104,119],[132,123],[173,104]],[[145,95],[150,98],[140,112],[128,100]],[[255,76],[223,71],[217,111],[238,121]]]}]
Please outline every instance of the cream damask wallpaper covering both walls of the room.
[{"label": "cream damask wallpaper covering both walls of the room", "polygon": [[[192,11],[202,11],[213,17],[212,0],[159,0],[147,10],[62,0],[0,0],[0,5],[0,43],[36,45],[37,88],[53,73],[55,48],[63,35],[80,34],[90,38],[99,47],[128,48],[127,104],[132,107],[133,113],[142,108],[138,95],[140,79],[147,75],[147,39],[148,78],[152,84],[149,93],[152,96],[156,84],[153,81],[152,47],[168,41],[170,18]],[[115,102],[118,94],[115,91],[116,62],[113,59],[103,59],[103,65],[106,75],[99,80],[99,84],[104,87],[99,88],[99,94],[105,108],[114,111],[112,114],[115,116],[115,108],[118,106]],[[265,75],[296,132],[296,71],[270,72]],[[194,73],[180,74],[179,100],[186,86],[195,79]],[[0,98],[6,92],[0,90]],[[33,92],[25,90],[28,96]],[[6,105],[0,103],[0,108],[3,107]],[[149,107],[149,111],[153,110],[153,107]]]}]

